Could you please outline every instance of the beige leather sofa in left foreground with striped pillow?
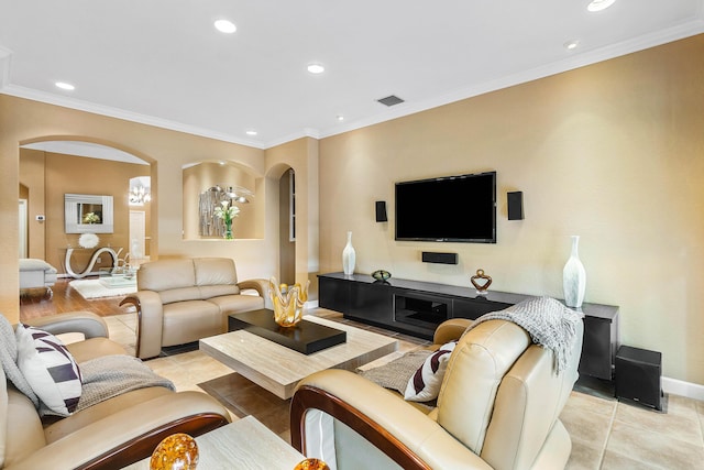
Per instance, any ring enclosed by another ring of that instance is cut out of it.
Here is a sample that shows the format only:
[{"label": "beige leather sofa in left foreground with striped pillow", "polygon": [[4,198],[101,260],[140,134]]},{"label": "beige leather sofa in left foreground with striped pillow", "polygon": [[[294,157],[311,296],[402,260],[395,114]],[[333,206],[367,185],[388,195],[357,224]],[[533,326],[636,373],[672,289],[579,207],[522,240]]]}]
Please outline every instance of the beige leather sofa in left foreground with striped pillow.
[{"label": "beige leather sofa in left foreground with striped pillow", "polygon": [[[80,363],[101,356],[124,354],[107,339],[105,321],[90,313],[61,314],[23,321],[54,335],[82,332],[68,345]],[[200,392],[153,386],[42,423],[33,403],[6,379],[0,368],[0,469],[116,469],[148,457],[175,433],[198,436],[230,422],[215,398]]]}]

